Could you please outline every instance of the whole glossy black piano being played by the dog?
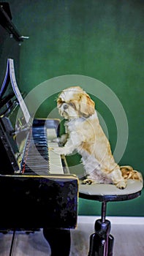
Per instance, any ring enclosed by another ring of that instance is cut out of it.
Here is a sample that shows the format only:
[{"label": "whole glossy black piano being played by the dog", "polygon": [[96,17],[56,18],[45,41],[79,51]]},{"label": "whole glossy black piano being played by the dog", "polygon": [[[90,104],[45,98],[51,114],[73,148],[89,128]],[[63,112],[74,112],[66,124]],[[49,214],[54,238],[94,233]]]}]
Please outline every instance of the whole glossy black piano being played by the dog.
[{"label": "whole glossy black piano being played by the dog", "polygon": [[[2,6],[1,17],[5,14],[12,25],[5,12]],[[0,230],[13,230],[15,236],[15,230],[42,228],[52,255],[67,256],[69,230],[77,225],[78,179],[69,173],[64,156],[51,150],[59,146],[53,140],[59,120],[33,118],[25,106],[26,116],[21,109],[12,87],[14,62],[9,53],[0,85]]]}]

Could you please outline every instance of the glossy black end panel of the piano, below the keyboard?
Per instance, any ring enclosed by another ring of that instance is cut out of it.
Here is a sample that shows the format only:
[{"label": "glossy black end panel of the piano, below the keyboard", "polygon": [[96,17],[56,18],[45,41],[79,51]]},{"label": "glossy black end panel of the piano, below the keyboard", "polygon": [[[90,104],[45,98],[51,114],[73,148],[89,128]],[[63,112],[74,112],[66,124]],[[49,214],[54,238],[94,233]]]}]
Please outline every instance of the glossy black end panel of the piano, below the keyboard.
[{"label": "glossy black end panel of the piano, below the keyboard", "polygon": [[0,176],[1,229],[75,228],[77,178]]}]

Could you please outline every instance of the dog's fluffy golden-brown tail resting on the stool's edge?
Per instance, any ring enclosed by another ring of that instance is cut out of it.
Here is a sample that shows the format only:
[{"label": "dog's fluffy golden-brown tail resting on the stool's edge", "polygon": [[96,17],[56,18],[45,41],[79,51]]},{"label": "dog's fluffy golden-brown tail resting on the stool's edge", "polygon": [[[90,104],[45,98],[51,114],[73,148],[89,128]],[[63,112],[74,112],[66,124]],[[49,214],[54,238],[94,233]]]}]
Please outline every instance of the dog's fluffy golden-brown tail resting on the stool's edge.
[{"label": "dog's fluffy golden-brown tail resting on the stool's edge", "polygon": [[142,174],[137,170],[134,170],[132,166],[129,166],[129,165],[120,166],[120,170],[121,170],[122,176],[125,179],[131,178],[131,179],[143,182]]}]

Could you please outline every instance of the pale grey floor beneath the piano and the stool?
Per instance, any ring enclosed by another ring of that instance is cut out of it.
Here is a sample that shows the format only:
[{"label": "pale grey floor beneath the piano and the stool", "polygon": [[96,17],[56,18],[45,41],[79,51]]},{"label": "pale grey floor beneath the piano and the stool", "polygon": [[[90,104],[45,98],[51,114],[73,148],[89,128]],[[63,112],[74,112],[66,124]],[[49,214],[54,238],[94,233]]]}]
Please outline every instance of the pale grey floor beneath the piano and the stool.
[{"label": "pale grey floor beneath the piano and the stool", "polygon": [[[94,223],[80,222],[71,230],[72,244],[69,256],[87,256],[89,236],[94,232]],[[112,224],[111,234],[115,238],[114,256],[144,256],[144,222],[134,224]],[[0,233],[0,256],[10,256],[12,232]],[[12,256],[50,256],[50,246],[42,230],[27,235],[16,232]],[[62,255],[60,255],[62,256]]]}]

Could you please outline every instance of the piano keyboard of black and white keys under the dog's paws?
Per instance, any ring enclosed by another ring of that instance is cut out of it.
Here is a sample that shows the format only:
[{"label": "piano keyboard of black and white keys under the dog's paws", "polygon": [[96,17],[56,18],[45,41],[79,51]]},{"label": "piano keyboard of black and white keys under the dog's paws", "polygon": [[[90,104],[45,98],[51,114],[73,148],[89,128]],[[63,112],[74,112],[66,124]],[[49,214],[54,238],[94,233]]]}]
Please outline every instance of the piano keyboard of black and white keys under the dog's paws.
[{"label": "piano keyboard of black and white keys under the dog's paws", "polygon": [[[34,172],[38,175],[64,174],[61,156],[52,151],[58,143],[52,142],[56,136],[56,129],[33,127],[26,140],[23,153],[21,172]],[[31,169],[31,170],[29,170]]]}]

